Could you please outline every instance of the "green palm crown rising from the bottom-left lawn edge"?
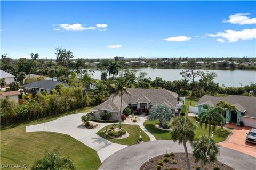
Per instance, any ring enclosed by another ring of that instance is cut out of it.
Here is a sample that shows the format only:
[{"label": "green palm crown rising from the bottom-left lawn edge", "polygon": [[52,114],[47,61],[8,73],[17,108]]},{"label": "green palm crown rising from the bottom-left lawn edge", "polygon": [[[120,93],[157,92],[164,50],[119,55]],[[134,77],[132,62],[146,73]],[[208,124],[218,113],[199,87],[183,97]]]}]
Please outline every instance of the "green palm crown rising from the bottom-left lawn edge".
[{"label": "green palm crown rising from the bottom-left lawn edge", "polygon": [[53,150],[52,153],[45,150],[42,159],[36,159],[31,170],[58,170],[58,169],[76,169],[70,157],[60,157],[60,147]]}]

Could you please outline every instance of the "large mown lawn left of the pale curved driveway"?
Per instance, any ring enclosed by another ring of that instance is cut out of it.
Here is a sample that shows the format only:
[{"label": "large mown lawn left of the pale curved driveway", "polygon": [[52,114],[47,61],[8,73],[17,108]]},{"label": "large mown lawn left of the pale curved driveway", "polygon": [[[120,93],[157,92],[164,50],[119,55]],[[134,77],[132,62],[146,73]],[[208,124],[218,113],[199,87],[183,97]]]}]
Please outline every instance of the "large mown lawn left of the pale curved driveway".
[{"label": "large mown lawn left of the pale curved driveway", "polygon": [[[86,109],[77,110],[76,113]],[[43,157],[45,149],[52,151],[60,146],[60,155],[70,156],[77,169],[98,169],[101,162],[97,152],[69,135],[53,132],[26,133],[27,125],[44,123],[72,113],[16,124],[14,128],[5,126],[1,130],[1,164],[26,164],[30,169],[35,159]]]}]

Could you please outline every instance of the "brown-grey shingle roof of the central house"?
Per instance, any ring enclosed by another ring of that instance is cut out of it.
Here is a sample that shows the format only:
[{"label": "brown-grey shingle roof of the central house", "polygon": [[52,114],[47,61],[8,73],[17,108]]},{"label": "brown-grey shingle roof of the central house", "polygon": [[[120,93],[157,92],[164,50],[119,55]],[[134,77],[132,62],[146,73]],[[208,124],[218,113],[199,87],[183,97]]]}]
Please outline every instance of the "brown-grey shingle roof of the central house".
[{"label": "brown-grey shingle roof of the central house", "polygon": [[[122,111],[128,104],[131,103],[150,103],[152,106],[157,104],[166,104],[172,109],[177,109],[178,94],[165,89],[139,89],[139,88],[127,88],[127,91],[131,95],[124,94],[122,97]],[[92,110],[109,110],[109,105],[113,108],[113,111],[120,111],[121,98],[119,96],[113,97],[111,95],[109,100],[92,108]],[[117,108],[115,108],[115,106]]]}]

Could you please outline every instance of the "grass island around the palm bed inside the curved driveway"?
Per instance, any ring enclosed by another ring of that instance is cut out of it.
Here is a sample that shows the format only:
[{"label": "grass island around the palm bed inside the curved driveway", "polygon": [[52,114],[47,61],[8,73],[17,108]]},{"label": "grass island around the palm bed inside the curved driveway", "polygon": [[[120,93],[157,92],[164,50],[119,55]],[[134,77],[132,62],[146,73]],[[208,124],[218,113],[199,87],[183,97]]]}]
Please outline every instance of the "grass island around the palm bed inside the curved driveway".
[{"label": "grass island around the palm bed inside the curved driveway", "polygon": [[[107,128],[110,129],[112,125],[108,125]],[[118,127],[118,124],[116,125]],[[139,133],[141,131],[142,140],[144,142],[150,141],[150,138],[148,135],[140,129],[140,126],[138,125],[129,125],[129,124],[122,124],[122,128],[125,128],[126,131],[129,133],[129,137],[124,139],[113,139],[110,138],[108,135],[104,134],[103,131],[106,130],[106,128],[102,128],[97,134],[101,136],[102,138],[105,138],[113,143],[119,143],[123,145],[134,145],[138,143],[139,139]]]}]

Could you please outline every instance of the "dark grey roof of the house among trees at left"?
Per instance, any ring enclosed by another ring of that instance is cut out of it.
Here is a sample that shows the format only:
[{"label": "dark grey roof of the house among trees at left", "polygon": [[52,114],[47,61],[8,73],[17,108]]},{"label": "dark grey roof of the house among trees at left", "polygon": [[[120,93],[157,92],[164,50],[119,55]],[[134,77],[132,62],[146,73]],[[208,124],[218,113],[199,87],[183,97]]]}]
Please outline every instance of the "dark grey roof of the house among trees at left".
[{"label": "dark grey roof of the house among trees at left", "polygon": [[56,84],[63,84],[65,87],[68,86],[67,83],[63,83],[60,81],[42,80],[42,81],[34,81],[31,83],[25,84],[23,87],[53,90],[55,88]]}]

